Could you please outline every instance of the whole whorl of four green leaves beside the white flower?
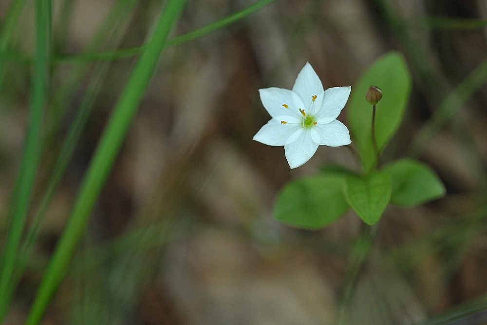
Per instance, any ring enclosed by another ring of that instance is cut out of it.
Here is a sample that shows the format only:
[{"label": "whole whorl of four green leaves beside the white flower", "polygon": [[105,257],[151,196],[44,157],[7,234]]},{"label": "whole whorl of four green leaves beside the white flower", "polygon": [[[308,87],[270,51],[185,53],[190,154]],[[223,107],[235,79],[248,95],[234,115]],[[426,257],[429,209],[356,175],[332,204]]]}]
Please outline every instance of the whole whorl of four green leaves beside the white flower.
[{"label": "whole whorl of four green leaves beside the white flower", "polygon": [[348,207],[368,225],[375,224],[387,204],[411,207],[445,195],[445,187],[426,165],[401,159],[377,170],[372,144],[372,105],[365,100],[371,85],[382,89],[376,105],[375,137],[384,150],[402,122],[411,92],[411,76],[402,55],[380,57],[352,88],[349,128],[360,156],[363,175],[339,165],[326,165],[320,173],[292,181],[278,196],[274,208],[278,220],[317,229],[335,221]]}]

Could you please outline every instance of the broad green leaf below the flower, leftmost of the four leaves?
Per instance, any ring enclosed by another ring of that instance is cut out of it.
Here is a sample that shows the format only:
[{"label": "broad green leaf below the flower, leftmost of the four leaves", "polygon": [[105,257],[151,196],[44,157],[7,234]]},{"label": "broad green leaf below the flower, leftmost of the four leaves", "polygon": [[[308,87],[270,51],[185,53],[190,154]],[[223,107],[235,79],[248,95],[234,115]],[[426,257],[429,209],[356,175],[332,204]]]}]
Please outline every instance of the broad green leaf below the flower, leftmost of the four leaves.
[{"label": "broad green leaf below the flower, leftmost of the four leaves", "polygon": [[343,196],[344,183],[344,175],[332,172],[294,180],[279,193],[274,216],[299,228],[323,228],[349,209]]}]

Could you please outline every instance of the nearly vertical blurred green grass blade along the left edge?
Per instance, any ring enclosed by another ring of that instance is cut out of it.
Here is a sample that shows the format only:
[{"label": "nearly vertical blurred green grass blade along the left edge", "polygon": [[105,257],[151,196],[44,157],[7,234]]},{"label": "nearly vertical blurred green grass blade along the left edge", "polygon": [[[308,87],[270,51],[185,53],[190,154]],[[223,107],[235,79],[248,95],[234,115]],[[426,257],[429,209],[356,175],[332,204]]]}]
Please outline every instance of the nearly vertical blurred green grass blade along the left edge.
[{"label": "nearly vertical blurred green grass blade along the left edge", "polygon": [[10,228],[0,269],[0,322],[5,317],[10,302],[11,294],[9,288],[12,275],[15,271],[15,262],[26,214],[31,201],[31,192],[40,156],[42,115],[47,102],[51,1],[37,0],[36,13],[36,60],[29,124],[25,138],[24,154],[20,163],[19,176],[11,199],[9,209]]}]

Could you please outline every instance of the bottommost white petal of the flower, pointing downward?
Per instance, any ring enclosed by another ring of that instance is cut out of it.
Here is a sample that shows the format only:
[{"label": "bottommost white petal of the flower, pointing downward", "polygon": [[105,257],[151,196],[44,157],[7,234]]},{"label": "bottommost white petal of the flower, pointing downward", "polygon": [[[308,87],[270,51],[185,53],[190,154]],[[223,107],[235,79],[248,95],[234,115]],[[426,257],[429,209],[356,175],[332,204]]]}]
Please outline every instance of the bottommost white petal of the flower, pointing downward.
[{"label": "bottommost white petal of the flower, pointing downward", "polygon": [[318,149],[318,144],[311,139],[309,128],[300,127],[289,137],[284,150],[291,168],[297,168],[307,162]]}]

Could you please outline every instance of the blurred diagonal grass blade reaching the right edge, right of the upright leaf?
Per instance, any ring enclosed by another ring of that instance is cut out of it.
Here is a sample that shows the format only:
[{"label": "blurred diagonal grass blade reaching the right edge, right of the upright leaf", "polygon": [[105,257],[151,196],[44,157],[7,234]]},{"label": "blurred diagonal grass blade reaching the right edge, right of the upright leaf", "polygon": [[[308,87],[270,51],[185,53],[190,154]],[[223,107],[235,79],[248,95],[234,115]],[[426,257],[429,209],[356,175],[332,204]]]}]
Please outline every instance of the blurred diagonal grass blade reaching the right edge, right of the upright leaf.
[{"label": "blurred diagonal grass blade reaching the right edge, right of the upright leaf", "polygon": [[421,154],[431,138],[455,115],[470,96],[487,82],[487,60],[482,62],[458,87],[443,100],[433,116],[423,126],[407,152],[410,157]]}]

